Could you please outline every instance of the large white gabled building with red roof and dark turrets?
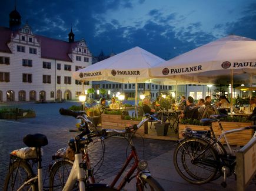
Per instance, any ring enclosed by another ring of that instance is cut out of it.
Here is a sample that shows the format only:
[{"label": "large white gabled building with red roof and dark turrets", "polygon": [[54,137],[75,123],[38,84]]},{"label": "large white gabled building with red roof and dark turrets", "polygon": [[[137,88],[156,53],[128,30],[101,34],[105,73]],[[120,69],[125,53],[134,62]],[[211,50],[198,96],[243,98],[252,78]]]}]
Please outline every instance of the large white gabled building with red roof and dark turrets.
[{"label": "large white gabled building with red roof and dark turrets", "polygon": [[0,27],[0,102],[78,99],[81,82],[71,78],[91,65],[84,39],[69,41],[36,35],[21,15],[9,14],[9,28]]}]

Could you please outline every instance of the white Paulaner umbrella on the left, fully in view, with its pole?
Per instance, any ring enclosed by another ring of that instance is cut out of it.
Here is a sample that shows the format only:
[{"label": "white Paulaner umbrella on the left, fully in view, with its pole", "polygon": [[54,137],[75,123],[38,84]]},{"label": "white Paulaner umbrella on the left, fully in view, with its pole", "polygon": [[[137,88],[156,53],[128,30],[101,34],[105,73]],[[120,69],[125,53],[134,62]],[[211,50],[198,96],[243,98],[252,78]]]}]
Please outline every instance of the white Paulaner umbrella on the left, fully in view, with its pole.
[{"label": "white Paulaner umbrella on the left, fully in view, with its pole", "polygon": [[73,72],[72,77],[79,81],[135,83],[135,104],[137,105],[137,83],[149,80],[149,68],[164,61],[137,46]]}]

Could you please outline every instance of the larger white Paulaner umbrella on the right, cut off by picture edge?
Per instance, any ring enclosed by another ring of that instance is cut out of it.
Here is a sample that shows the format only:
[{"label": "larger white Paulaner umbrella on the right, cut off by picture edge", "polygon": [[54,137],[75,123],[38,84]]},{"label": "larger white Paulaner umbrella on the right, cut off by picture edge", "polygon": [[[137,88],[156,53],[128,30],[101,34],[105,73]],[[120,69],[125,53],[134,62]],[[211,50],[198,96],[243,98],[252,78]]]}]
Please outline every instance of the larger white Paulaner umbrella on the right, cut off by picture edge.
[{"label": "larger white Paulaner umbrella on the right, cut off by picture edge", "polygon": [[231,88],[233,75],[252,79],[255,74],[256,41],[235,35],[207,43],[151,68],[152,78],[197,83],[218,83],[218,79],[231,76]]}]

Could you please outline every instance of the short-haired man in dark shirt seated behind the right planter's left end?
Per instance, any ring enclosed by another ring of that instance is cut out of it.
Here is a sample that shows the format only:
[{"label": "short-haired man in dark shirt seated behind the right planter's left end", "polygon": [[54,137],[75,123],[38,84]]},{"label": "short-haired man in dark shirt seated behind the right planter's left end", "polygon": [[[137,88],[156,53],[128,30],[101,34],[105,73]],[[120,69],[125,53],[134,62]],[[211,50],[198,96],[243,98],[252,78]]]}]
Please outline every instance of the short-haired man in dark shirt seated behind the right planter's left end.
[{"label": "short-haired man in dark shirt seated behind the right planter's left end", "polygon": [[187,105],[185,106],[183,112],[181,113],[181,118],[183,119],[198,119],[197,106],[194,104],[194,99],[188,96]]}]

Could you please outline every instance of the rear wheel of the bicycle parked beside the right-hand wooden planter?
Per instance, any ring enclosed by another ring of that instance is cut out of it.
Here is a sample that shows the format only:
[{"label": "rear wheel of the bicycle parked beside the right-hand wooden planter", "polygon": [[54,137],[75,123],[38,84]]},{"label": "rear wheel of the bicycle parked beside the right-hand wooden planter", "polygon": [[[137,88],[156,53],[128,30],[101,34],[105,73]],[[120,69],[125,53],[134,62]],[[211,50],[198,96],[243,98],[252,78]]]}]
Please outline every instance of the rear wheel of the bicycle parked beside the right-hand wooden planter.
[{"label": "rear wheel of the bicycle parked beside the right-hand wooden planter", "polygon": [[192,138],[175,149],[175,169],[187,182],[201,185],[215,178],[218,172],[218,156],[212,148],[205,150],[207,145],[208,142],[203,139]]}]

